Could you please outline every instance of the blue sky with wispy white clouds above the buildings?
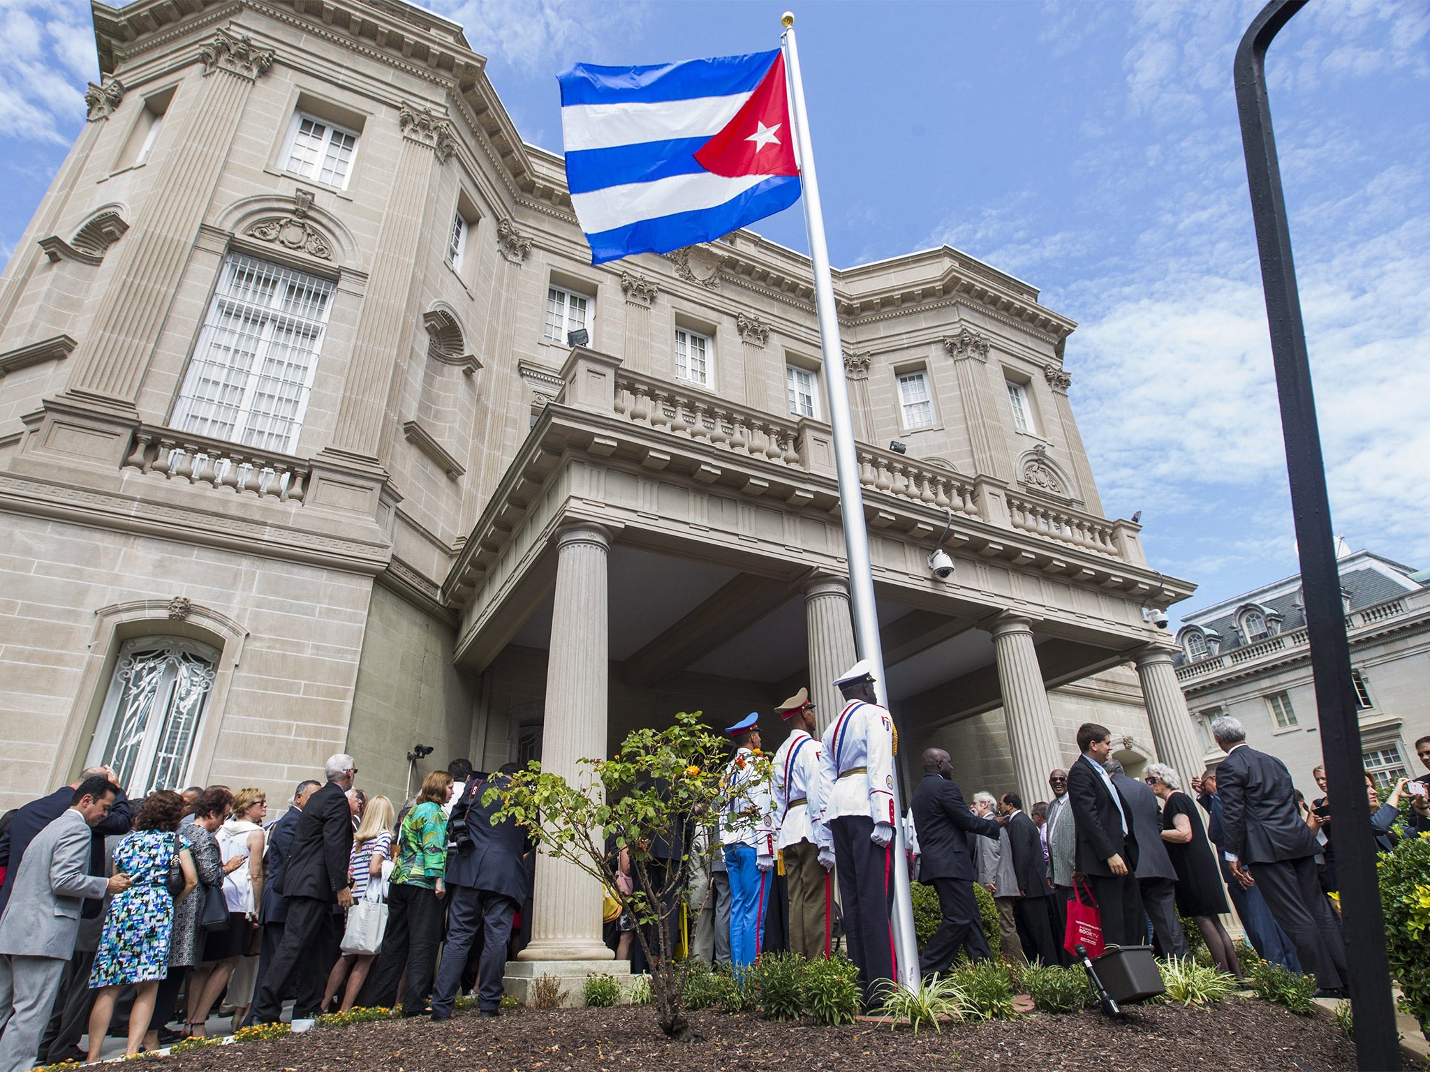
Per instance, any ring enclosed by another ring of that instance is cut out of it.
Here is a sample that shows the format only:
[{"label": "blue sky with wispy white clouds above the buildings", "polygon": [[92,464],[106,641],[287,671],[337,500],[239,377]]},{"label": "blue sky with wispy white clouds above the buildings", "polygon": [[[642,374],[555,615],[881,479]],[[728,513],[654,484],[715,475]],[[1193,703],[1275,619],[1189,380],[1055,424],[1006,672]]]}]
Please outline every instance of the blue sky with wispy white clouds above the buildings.
[{"label": "blue sky with wispy white clouds above the buildings", "polygon": [[[555,73],[778,43],[769,3],[430,0],[528,142]],[[1080,327],[1072,402],[1111,516],[1188,609],[1294,573],[1231,57],[1257,3],[802,3],[835,264],[954,244]],[[83,121],[87,9],[0,4],[0,254]],[[1430,0],[1311,4],[1268,63],[1336,530],[1430,566]],[[756,226],[805,249],[797,206]]]}]

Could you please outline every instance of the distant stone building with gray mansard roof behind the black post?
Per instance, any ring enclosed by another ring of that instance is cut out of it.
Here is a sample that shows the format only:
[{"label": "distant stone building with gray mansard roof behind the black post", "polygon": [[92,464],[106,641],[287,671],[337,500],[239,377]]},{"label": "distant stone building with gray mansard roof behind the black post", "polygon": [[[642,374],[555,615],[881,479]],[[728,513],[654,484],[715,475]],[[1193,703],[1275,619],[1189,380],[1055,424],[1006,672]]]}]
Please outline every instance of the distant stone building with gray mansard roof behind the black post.
[{"label": "distant stone building with gray mansard roof behind the black post", "polygon": [[[1430,736],[1430,572],[1373,552],[1337,563],[1366,769],[1381,786],[1423,772],[1414,742]],[[1221,760],[1211,720],[1241,720],[1247,742],[1281,759],[1307,799],[1321,763],[1300,576],[1183,616],[1177,678],[1205,762]]]}]

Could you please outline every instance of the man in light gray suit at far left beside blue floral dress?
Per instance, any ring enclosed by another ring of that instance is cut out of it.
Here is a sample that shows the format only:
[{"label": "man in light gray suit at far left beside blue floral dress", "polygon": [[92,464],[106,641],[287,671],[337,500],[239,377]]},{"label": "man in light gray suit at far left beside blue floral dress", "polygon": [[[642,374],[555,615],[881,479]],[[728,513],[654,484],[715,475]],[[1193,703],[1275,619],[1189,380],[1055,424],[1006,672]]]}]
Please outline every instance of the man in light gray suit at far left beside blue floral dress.
[{"label": "man in light gray suit at far left beside blue floral dress", "polygon": [[20,860],[0,916],[0,1072],[24,1072],[39,1061],[54,993],[74,953],[83,900],[129,889],[127,875],[89,873],[92,828],[113,803],[109,778],[86,778],[69,809],[30,842]]}]

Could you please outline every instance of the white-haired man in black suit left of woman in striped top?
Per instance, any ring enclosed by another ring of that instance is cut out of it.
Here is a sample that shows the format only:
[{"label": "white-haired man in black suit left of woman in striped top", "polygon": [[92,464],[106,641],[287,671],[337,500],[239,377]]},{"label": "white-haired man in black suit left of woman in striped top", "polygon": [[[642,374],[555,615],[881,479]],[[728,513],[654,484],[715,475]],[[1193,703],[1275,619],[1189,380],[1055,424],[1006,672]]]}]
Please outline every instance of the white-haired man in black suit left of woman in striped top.
[{"label": "white-haired man in black suit left of woman in striped top", "polygon": [[[293,825],[293,840],[283,860],[283,873],[273,888],[283,896],[287,910],[283,938],[263,979],[255,1002],[255,1023],[277,1023],[289,981],[319,949],[332,943],[326,933],[333,926],[333,903],[350,908],[353,893],[347,885],[347,859],[353,849],[352,810],[347,790],[353,788],[358,765],[352,756],[329,756],[323,765],[327,785],[315,792]],[[326,969],[325,969],[326,973]],[[299,976],[293,1016],[316,1015],[323,1001],[323,975]]]}]

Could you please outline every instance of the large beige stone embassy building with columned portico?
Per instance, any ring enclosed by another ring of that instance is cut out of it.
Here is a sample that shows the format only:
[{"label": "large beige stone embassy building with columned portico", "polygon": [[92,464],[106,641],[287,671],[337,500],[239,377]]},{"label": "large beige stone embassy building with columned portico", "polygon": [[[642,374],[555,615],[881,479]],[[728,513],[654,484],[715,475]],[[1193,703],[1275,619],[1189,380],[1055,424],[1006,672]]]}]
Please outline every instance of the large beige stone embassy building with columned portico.
[{"label": "large beige stone embassy building with columned portico", "polygon": [[[591,267],[561,157],[398,0],[94,26],[90,121],[0,289],[0,806],[86,762],[282,799],[339,750],[400,799],[418,742],[572,770],[807,682],[832,716],[805,257],[739,232]],[[1087,718],[1134,772],[1195,768],[1144,615],[1191,585],[1103,516],[1074,323],[947,247],[835,287],[905,773],[938,743],[1031,802]],[[535,902],[526,956],[609,956],[585,879],[542,862]]]}]

